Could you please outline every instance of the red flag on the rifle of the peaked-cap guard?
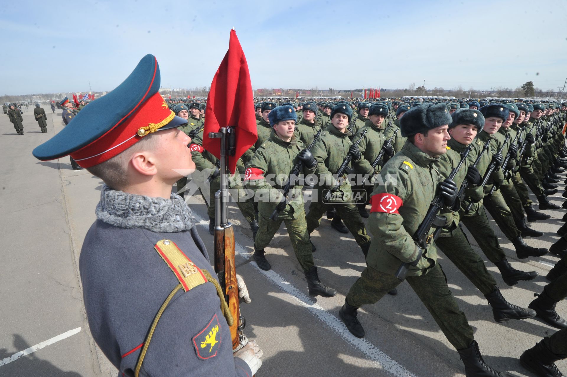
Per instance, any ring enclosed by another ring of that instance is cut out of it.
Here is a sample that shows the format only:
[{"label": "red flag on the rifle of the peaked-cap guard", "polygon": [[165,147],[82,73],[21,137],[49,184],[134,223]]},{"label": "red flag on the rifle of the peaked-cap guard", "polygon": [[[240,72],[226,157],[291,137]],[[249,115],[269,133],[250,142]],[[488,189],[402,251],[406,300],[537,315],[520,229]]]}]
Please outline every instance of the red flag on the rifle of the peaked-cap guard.
[{"label": "red flag on the rifle of the peaked-cap guard", "polygon": [[236,161],[258,138],[248,63],[234,29],[230,31],[229,50],[211,83],[205,118],[203,147],[217,158],[221,156],[221,139],[209,138],[209,132],[235,127],[235,155],[229,156],[228,163],[234,173]]}]

